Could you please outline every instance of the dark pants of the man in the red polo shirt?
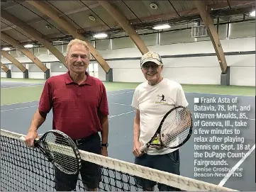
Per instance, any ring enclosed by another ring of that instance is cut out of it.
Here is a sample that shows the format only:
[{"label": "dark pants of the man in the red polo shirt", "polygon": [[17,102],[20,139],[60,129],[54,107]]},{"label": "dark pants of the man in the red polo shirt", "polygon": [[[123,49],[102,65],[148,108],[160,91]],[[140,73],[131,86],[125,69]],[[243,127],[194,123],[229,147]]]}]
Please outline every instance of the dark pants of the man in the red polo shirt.
[{"label": "dark pants of the man in the red polo shirt", "polygon": [[[77,145],[78,149],[101,154],[101,138],[99,134],[91,135],[81,145]],[[101,167],[91,162],[82,160],[80,169],[82,182],[87,188],[98,188],[101,181]],[[55,190],[56,191],[72,191],[77,186],[77,175],[65,174],[55,168]],[[88,190],[88,189],[86,189]]]}]

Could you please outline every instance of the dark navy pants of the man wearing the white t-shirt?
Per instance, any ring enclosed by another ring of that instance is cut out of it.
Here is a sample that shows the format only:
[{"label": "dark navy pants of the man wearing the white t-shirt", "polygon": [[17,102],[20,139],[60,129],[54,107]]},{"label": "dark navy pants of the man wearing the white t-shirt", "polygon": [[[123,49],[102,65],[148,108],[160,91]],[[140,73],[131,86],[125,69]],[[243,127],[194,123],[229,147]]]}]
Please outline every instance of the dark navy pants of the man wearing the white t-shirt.
[{"label": "dark navy pants of the man wearing the white t-shirt", "polygon": [[[179,175],[179,149],[169,154],[143,154],[140,157],[135,157],[135,164]],[[143,179],[139,177],[136,178],[136,183],[139,186],[143,187],[145,191],[150,191],[150,189],[157,184],[155,181],[150,181],[148,179]],[[159,191],[180,191],[178,188],[166,186],[162,183],[158,183],[157,187]]]}]

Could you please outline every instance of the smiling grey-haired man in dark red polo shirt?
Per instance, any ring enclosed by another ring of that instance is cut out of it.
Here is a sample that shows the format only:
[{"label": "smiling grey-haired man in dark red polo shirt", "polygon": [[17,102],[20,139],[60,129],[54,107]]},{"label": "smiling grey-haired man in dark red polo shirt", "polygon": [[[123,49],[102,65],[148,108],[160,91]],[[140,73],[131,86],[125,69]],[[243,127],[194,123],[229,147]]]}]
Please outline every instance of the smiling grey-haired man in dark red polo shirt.
[{"label": "smiling grey-haired man in dark red polo shirt", "polygon": [[[82,40],[72,40],[67,45],[66,74],[50,77],[43,88],[38,110],[26,135],[26,145],[33,147],[37,130],[52,109],[52,128],[65,132],[81,150],[108,155],[108,101],[104,84],[86,72],[89,65],[89,47]],[[101,132],[101,138],[98,134]],[[84,186],[96,191],[101,181],[100,166],[83,162],[80,171]],[[77,176],[55,169],[55,189],[72,191]]]}]

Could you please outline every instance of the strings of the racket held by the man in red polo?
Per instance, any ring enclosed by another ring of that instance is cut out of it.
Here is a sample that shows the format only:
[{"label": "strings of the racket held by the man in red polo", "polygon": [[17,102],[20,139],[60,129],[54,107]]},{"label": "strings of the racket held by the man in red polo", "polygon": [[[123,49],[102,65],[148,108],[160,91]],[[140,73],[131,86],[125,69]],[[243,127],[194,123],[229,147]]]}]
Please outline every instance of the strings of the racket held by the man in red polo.
[{"label": "strings of the racket held by the man in red polo", "polygon": [[59,169],[70,173],[77,171],[77,157],[65,137],[57,133],[48,134],[44,140],[44,147]]}]

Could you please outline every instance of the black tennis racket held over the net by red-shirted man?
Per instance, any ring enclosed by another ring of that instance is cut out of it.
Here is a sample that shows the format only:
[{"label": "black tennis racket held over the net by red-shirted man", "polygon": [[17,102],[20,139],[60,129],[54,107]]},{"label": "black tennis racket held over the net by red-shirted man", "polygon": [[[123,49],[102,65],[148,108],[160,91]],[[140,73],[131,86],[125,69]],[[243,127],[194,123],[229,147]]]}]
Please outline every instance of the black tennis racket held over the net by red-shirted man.
[{"label": "black tennis racket held over the net by red-shirted man", "polygon": [[34,141],[54,166],[65,174],[78,174],[81,168],[79,149],[74,141],[59,130],[50,130]]}]

